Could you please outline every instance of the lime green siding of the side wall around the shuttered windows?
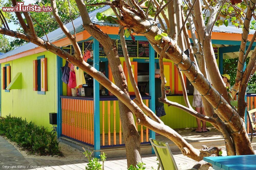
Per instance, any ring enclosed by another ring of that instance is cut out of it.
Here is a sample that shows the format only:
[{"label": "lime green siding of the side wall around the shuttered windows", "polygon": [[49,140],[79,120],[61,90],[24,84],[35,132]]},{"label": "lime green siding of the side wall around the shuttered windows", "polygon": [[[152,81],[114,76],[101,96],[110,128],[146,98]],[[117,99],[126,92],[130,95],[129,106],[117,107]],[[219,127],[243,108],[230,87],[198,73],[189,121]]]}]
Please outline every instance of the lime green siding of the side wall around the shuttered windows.
[{"label": "lime green siding of the side wall around the shuttered windows", "polygon": [[[41,55],[47,58],[48,91],[45,95],[39,95],[37,91],[33,91],[33,60]],[[37,125],[51,127],[49,113],[57,112],[56,61],[56,55],[46,51],[2,63],[1,67],[10,64],[11,80],[18,72],[22,73],[22,89],[12,89],[10,92],[1,89],[1,116],[5,117],[9,114],[21,116]]]}]

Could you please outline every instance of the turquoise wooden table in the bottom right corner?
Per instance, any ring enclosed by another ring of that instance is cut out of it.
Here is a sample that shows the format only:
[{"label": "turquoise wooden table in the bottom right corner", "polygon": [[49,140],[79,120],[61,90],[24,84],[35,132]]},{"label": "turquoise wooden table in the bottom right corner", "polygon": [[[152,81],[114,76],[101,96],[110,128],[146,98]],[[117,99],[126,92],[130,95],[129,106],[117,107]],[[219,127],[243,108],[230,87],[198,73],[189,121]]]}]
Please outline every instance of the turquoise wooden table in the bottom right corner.
[{"label": "turquoise wooden table in the bottom right corner", "polygon": [[215,170],[256,169],[256,155],[204,157]]}]

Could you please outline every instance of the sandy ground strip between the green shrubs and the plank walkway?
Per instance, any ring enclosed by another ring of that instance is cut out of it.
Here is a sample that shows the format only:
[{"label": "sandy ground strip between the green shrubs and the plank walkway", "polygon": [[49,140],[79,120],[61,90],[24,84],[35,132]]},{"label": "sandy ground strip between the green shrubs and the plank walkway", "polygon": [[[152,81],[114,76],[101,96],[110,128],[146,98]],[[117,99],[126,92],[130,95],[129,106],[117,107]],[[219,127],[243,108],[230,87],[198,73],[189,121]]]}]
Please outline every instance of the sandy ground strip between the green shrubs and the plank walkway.
[{"label": "sandy ground strip between the green shrubs and the plank walkway", "polygon": [[39,156],[39,155],[29,155],[19,147],[16,142],[12,142],[6,137],[4,137],[8,142],[10,142],[25,158],[35,158],[35,159],[47,159],[47,160],[63,160],[63,161],[71,161],[71,160],[82,160],[85,159],[82,151],[73,148],[65,143],[59,142],[60,151],[63,153],[63,156]]}]

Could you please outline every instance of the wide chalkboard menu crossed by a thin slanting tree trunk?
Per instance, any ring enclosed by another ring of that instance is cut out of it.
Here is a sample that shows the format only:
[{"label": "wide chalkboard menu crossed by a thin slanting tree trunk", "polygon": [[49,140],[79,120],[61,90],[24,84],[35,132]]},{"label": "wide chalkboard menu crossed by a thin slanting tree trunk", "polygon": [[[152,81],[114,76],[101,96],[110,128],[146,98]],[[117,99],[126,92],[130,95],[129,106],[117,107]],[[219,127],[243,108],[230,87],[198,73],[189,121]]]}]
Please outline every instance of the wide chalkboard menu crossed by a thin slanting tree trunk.
[{"label": "wide chalkboard menu crossed by a thin slanting tree trunk", "polygon": [[[128,51],[129,57],[137,57],[138,56],[138,49],[137,49],[138,42],[133,41],[133,40],[125,40],[125,43],[127,46],[127,51]],[[118,40],[117,45],[118,45],[117,49],[118,49],[119,57],[124,57],[120,40]]]}]

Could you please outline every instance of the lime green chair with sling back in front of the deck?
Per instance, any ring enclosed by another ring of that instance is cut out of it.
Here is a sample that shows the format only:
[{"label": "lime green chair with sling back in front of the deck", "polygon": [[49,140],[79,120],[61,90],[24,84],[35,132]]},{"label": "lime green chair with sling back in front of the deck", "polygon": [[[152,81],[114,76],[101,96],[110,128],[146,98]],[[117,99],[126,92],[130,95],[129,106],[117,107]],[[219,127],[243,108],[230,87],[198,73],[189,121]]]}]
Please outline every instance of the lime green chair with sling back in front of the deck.
[{"label": "lime green chair with sling back in front of the deck", "polygon": [[[159,161],[159,166],[161,167],[161,169],[162,170],[178,170],[178,167],[176,165],[176,162],[174,160],[173,154],[170,150],[168,143],[157,141],[152,138],[150,138],[149,140],[156,153],[157,159]],[[158,166],[158,169],[159,169],[159,166]]]}]

